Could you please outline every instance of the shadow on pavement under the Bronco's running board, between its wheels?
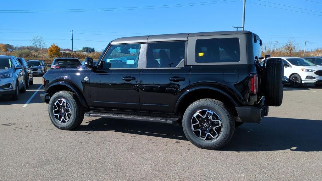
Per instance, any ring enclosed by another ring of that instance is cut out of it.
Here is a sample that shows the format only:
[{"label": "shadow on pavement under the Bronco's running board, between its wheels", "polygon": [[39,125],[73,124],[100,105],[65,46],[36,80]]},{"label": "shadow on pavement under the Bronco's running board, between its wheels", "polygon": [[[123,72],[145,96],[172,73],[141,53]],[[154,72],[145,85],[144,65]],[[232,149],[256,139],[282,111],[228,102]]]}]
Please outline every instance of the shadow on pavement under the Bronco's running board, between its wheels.
[{"label": "shadow on pavement under the Bronco's running board, between its wheels", "polygon": [[146,135],[161,138],[188,140],[185,137],[182,126],[174,126],[164,123],[152,123],[146,121],[131,121],[123,119],[99,118],[85,122],[88,125],[80,125],[75,131],[115,131],[136,135]]}]

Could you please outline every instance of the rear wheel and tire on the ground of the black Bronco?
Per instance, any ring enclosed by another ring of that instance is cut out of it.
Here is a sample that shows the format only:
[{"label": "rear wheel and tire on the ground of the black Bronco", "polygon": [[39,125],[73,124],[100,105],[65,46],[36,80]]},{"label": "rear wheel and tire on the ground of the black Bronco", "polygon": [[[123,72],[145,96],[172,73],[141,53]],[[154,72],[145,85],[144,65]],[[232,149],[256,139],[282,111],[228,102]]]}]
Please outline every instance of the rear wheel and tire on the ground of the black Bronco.
[{"label": "rear wheel and tire on the ground of the black Bronco", "polygon": [[185,111],[182,127],[188,140],[199,148],[218,149],[226,145],[235,131],[235,120],[223,102],[201,99]]}]

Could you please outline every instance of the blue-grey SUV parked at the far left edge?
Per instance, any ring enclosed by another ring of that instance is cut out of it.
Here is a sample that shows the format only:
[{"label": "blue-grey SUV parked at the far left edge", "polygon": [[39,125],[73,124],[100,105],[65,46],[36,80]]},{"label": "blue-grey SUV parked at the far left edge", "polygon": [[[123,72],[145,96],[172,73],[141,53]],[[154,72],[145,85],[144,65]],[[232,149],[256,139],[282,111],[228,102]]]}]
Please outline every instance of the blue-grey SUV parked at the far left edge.
[{"label": "blue-grey SUV parked at the far left edge", "polygon": [[14,56],[0,55],[0,95],[18,100],[19,91],[26,92],[24,67]]}]

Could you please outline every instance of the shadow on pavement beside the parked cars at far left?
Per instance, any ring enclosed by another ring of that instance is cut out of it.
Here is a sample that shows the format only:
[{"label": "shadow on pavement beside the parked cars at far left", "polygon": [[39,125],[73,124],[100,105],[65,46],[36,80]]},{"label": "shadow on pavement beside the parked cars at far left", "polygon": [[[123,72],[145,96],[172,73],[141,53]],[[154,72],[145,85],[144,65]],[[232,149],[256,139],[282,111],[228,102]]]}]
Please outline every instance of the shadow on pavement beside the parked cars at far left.
[{"label": "shadow on pavement beside the parked cars at far left", "polygon": [[[0,96],[0,105],[24,104],[33,95],[33,93],[40,87],[40,85],[42,84],[33,84],[29,86],[26,92],[24,93],[19,92],[18,100],[11,100],[11,96]],[[29,104],[42,103],[43,101],[39,97],[39,94],[41,94],[42,92],[43,92],[43,89],[39,90]]]}]

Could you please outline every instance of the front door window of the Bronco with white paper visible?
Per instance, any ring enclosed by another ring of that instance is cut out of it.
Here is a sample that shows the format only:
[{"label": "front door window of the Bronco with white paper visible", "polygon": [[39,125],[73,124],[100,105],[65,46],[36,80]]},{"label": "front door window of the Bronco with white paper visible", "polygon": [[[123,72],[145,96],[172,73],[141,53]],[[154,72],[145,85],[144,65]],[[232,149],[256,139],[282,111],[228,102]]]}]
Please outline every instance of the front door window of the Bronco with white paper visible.
[{"label": "front door window of the Bronco with white paper visible", "polygon": [[137,68],[141,44],[111,45],[102,59],[103,69],[110,63],[110,68]]}]

